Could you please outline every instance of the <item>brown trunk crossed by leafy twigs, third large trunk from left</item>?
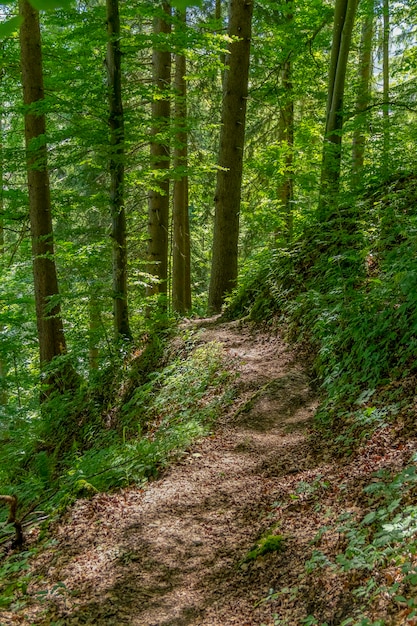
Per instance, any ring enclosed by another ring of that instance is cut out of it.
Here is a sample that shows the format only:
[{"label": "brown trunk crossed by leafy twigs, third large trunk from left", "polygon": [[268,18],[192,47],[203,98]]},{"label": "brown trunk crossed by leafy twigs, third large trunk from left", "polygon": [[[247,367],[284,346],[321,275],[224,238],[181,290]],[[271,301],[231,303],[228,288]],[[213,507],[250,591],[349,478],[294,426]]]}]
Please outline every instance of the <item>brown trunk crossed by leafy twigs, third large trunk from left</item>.
[{"label": "brown trunk crossed by leafy twigs, third large trunk from left", "polygon": [[[148,219],[148,273],[157,279],[150,285],[147,294],[166,294],[168,289],[168,221],[169,221],[169,127],[171,83],[171,53],[166,45],[157,43],[161,34],[171,32],[169,4],[163,3],[166,17],[154,19],[153,33],[156,42],[152,53],[152,78],[155,95],[152,101],[151,167],[155,170],[154,188],[149,194]],[[162,135],[162,139],[158,138]],[[164,170],[166,171],[165,173]]]}]

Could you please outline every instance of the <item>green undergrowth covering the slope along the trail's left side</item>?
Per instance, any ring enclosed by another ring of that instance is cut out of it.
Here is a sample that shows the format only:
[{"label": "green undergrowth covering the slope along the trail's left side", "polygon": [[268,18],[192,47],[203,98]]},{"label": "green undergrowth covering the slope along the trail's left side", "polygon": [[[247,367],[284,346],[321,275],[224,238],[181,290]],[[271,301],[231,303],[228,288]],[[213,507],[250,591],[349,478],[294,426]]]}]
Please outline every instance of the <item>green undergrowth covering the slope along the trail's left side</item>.
[{"label": "green undergrowth covering the slope along the trail's left side", "polygon": [[[142,485],[209,432],[233,396],[221,345],[201,344],[193,331],[175,342],[158,337],[113,363],[113,376],[97,374],[89,386],[51,398],[42,414],[9,425],[1,493],[18,496],[18,517],[50,521],[77,497]],[[12,533],[6,525],[0,545]],[[0,568],[3,607],[24,602],[30,554],[12,554]]]}]

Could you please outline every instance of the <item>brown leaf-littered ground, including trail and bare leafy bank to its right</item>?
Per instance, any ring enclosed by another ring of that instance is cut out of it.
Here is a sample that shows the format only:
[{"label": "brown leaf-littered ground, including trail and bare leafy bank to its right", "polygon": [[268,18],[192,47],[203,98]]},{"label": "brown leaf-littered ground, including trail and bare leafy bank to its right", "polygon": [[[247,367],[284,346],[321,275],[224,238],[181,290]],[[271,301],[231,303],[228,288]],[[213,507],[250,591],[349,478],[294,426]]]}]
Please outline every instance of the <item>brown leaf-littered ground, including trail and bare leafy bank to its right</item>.
[{"label": "brown leaf-littered ground, including trail and bare leafy bank to its right", "polygon": [[[29,601],[0,613],[1,626],[297,626],[313,613],[328,624],[349,615],[343,576],[306,573],[311,542],[343,511],[360,512],[370,472],[401,467],[415,442],[381,429],[354,461],[326,458],[309,437],[318,401],[302,357],[279,334],[200,325],[199,340],[220,342],[239,373],[233,406],[144,489],[77,501],[31,561]],[[261,554],[271,534],[282,549]],[[321,547],[339,542],[328,530]]]}]

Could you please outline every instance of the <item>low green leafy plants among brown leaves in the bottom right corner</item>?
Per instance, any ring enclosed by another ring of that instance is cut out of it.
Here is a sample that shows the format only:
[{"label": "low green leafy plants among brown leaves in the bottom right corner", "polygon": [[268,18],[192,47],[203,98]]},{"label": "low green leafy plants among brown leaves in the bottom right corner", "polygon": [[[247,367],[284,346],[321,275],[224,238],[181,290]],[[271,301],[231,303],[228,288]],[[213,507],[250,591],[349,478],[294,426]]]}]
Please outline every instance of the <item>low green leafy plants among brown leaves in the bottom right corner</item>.
[{"label": "low green leafy plants among brown leaves in the bottom right corner", "polygon": [[[346,626],[384,624],[367,617],[367,611],[377,605],[380,596],[408,607],[408,618],[417,616],[416,485],[415,465],[394,475],[386,470],[377,472],[373,482],[364,488],[368,512],[359,519],[349,513],[339,518],[337,532],[344,538],[345,549],[334,559],[313,550],[305,563],[310,574],[330,568],[348,575],[351,616],[342,622]],[[326,527],[323,532],[328,530]]]}]

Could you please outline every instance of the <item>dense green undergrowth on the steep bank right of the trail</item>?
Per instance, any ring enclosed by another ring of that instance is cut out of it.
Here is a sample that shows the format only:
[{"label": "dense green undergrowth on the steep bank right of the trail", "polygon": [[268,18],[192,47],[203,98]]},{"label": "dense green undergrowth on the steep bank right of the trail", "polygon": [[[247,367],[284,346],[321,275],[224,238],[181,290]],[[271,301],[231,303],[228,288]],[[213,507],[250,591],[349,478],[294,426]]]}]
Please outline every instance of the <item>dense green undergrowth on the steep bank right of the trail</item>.
[{"label": "dense green undergrowth on the steep bank right of the trail", "polygon": [[[417,180],[390,181],[304,225],[241,272],[227,317],[279,317],[312,355],[316,425],[348,452],[395,419],[417,375]],[[411,381],[411,383],[410,383]],[[346,440],[343,440],[346,435]]]}]

